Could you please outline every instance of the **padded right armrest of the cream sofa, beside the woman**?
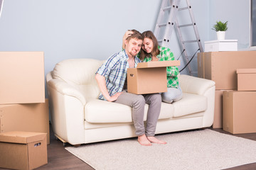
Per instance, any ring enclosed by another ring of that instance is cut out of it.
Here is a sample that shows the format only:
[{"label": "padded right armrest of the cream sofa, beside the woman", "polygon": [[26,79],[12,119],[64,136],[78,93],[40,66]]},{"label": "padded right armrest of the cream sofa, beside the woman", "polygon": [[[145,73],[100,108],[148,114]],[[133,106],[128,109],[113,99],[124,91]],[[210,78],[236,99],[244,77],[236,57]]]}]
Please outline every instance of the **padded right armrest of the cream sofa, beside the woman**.
[{"label": "padded right armrest of the cream sofa, beside the woman", "polygon": [[188,94],[204,95],[208,89],[215,86],[215,82],[212,80],[192,77],[185,74],[181,74],[178,77],[178,81],[182,91]]}]

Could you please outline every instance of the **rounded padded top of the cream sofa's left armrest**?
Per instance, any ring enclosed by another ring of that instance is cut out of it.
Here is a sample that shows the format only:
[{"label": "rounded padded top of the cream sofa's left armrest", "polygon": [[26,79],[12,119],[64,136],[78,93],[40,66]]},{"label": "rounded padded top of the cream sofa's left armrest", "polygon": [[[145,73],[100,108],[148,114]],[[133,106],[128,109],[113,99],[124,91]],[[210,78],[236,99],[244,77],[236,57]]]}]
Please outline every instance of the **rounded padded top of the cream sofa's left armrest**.
[{"label": "rounded padded top of the cream sofa's left armrest", "polygon": [[78,100],[82,103],[82,106],[85,106],[86,100],[82,93],[78,89],[75,89],[74,86],[65,83],[65,81],[61,79],[50,79],[47,82],[47,85],[62,95],[78,98]]}]

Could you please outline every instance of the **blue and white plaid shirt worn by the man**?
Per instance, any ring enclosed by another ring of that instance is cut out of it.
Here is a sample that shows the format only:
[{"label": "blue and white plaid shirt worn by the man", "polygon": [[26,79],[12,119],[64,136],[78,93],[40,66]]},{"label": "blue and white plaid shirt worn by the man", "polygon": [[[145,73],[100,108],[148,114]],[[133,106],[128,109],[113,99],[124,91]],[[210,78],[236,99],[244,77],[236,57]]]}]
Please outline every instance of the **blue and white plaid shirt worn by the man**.
[{"label": "blue and white plaid shirt worn by the man", "polygon": [[[105,77],[107,91],[110,96],[113,96],[117,92],[121,92],[124,86],[124,81],[127,77],[127,69],[129,64],[127,62],[128,55],[125,50],[118,52],[107,59],[102,66],[97,70],[96,74],[100,74]],[[138,57],[134,58],[135,67],[141,62]],[[100,99],[106,100],[102,94]]]}]

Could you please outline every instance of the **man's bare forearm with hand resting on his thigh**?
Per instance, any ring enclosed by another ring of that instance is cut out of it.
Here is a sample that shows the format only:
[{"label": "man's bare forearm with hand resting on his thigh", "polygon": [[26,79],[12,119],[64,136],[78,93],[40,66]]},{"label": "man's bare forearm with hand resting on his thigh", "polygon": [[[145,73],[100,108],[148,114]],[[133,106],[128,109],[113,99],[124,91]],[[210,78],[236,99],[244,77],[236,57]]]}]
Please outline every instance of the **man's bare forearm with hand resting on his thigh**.
[{"label": "man's bare forearm with hand resting on his thigh", "polygon": [[114,94],[113,96],[110,96],[109,92],[107,91],[107,86],[106,86],[106,79],[104,76],[100,75],[100,74],[96,74],[95,79],[97,81],[97,85],[100,88],[100,92],[102,93],[102,95],[104,96],[104,98],[107,101],[116,101],[117,97],[122,94],[122,92],[119,92],[117,94]]}]

